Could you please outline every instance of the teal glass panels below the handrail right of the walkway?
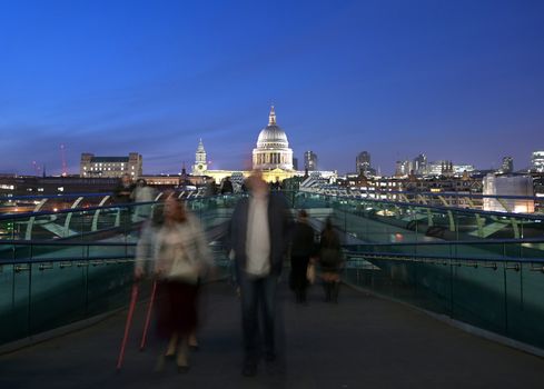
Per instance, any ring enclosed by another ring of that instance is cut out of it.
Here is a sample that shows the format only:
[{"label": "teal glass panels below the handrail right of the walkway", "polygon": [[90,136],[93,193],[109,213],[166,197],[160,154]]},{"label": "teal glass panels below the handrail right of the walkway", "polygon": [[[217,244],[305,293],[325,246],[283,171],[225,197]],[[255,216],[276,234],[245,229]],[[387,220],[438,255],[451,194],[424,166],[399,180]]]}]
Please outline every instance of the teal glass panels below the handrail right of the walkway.
[{"label": "teal glass panels below the handrail right of the walkway", "polygon": [[344,279],[544,349],[544,240],[356,245]]}]

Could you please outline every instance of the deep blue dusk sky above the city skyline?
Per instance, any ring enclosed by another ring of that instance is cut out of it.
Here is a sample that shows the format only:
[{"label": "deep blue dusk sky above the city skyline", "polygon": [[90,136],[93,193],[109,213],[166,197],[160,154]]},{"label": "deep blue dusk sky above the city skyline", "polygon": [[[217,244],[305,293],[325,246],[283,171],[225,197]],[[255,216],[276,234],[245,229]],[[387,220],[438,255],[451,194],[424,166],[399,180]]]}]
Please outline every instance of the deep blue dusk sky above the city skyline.
[{"label": "deep blue dusk sky above the city skyline", "polygon": [[243,169],[270,102],[295,157],[383,173],[419,152],[515,169],[544,149],[544,1],[0,2],[0,172],[66,146]]}]

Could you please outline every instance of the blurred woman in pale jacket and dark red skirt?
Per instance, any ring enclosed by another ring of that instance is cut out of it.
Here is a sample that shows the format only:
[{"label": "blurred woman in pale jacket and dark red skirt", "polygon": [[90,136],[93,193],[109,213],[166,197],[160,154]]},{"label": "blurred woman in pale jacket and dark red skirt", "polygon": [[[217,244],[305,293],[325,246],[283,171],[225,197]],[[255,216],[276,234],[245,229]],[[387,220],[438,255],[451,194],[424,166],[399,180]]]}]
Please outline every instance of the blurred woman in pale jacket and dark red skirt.
[{"label": "blurred woman in pale jacket and dark red skirt", "polygon": [[[168,340],[157,370],[175,358],[179,372],[189,369],[189,348],[197,347],[197,298],[199,280],[211,265],[211,256],[198,219],[181,201],[168,197],[161,221],[150,222],[138,243],[137,255],[151,258],[157,278],[157,332]],[[145,268],[137,261],[136,278]]]}]

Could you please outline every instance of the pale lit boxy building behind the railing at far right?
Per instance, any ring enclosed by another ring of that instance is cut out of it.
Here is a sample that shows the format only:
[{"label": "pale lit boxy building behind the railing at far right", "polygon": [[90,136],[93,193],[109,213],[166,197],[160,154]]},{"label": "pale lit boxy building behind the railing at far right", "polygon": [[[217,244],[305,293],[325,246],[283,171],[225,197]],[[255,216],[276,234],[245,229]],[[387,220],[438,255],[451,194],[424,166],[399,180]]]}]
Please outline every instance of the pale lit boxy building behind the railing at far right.
[{"label": "pale lit boxy building behind the railing at far right", "polygon": [[[527,176],[495,176],[484,178],[484,194],[489,196],[534,196],[533,179]],[[533,213],[533,199],[484,198],[484,210],[496,212]]]}]

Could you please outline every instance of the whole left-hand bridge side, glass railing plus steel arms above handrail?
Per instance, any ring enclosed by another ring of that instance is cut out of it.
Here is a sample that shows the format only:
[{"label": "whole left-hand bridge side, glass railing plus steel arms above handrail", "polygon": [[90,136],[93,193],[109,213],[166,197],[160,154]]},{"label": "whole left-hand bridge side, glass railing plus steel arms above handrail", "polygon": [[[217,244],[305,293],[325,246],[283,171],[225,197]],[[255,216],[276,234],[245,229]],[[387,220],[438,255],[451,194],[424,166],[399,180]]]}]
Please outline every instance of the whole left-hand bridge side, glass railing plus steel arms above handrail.
[{"label": "whole left-hand bridge side, glass railing plus steel arms above handrail", "polygon": [[[218,276],[226,276],[230,266],[221,236],[237,199],[218,196],[186,202],[207,233]],[[24,228],[10,237],[16,239],[0,239],[0,346],[126,306],[139,228],[149,217],[139,210],[158,211],[157,206],[130,203],[0,217],[0,222],[11,220],[23,227],[31,218],[37,222],[30,239]],[[40,223],[62,227],[68,217],[69,236]]]}]

